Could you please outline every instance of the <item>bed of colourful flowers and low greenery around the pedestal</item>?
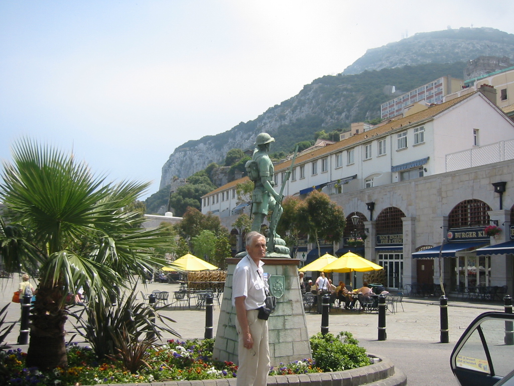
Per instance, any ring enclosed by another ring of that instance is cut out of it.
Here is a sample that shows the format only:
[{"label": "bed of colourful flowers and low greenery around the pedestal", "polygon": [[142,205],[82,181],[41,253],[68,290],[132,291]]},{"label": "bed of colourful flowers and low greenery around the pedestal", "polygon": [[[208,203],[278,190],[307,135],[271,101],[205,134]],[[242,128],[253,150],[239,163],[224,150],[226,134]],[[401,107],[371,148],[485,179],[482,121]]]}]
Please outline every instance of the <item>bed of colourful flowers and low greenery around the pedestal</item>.
[{"label": "bed of colourful flowers and low greenery around the pedestal", "polygon": [[[325,362],[325,366],[317,366],[315,360],[305,359],[271,367],[269,375],[321,373],[370,364],[364,348],[357,343],[348,332],[341,332],[337,337],[317,334],[311,338],[313,358],[320,363]],[[235,377],[237,366],[234,363],[210,360],[213,346],[213,339],[171,340],[168,344],[150,348],[146,365],[134,373],[127,371],[117,358],[98,363],[93,350],[77,344],[67,347],[67,369],[47,372],[25,367],[26,354],[21,349],[6,350],[0,352],[0,384],[64,386]]]}]

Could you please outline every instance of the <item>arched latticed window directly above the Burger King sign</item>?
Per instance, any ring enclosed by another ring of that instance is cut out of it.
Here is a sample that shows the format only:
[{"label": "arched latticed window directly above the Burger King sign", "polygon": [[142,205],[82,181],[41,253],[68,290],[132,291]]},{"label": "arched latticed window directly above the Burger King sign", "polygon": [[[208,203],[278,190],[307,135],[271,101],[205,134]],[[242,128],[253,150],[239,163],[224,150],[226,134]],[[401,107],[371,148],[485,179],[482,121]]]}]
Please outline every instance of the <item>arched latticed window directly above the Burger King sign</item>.
[{"label": "arched latticed window directly above the Burger King sign", "polygon": [[490,206],[481,200],[461,201],[448,215],[448,228],[467,228],[469,226],[489,225]]}]

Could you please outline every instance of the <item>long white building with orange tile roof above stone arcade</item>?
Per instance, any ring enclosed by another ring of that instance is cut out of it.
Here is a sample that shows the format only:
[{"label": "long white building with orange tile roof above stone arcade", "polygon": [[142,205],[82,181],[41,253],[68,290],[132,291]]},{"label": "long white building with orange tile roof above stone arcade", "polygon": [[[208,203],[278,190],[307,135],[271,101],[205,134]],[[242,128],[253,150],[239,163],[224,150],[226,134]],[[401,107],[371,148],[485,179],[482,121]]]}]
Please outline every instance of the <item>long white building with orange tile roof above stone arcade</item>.
[{"label": "long white building with orange tile roof above stone arcade", "polygon": [[[357,215],[359,232],[368,236],[360,252],[386,267],[390,288],[437,283],[438,261],[431,248],[447,234],[455,235],[442,266],[448,288],[470,283],[512,288],[510,255],[476,254],[500,241],[483,234],[489,221],[498,220],[505,231],[502,241],[508,241],[508,222],[514,216],[514,122],[496,106],[495,97],[495,90],[485,86],[423,111],[407,111],[399,119],[297,157],[289,181],[285,173],[291,161],[276,165],[276,189],[285,184],[286,196],[299,197],[318,189],[342,206],[345,238],[325,245],[329,252],[348,250],[350,218]],[[243,181],[210,192],[202,202],[203,212],[219,214],[233,233],[238,231],[232,223],[246,205],[238,205],[235,194],[235,185]],[[491,185],[498,182],[506,183],[501,206]],[[473,232],[474,238],[469,236]],[[303,258],[309,245],[299,247],[296,257]],[[424,250],[428,252],[416,254]],[[317,257],[318,251],[312,255]],[[483,277],[473,282],[472,272],[461,269],[466,264],[475,264],[480,272],[486,267]]]}]

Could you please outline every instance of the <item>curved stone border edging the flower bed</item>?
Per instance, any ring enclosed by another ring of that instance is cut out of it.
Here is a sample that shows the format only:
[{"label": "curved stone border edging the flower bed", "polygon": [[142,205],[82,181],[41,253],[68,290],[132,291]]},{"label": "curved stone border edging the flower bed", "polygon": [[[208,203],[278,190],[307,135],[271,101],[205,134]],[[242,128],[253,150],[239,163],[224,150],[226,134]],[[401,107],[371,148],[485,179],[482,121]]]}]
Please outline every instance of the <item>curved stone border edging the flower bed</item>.
[{"label": "curved stone border edging the flower bed", "polygon": [[[370,357],[375,357],[369,354]],[[376,357],[375,357],[376,358]],[[311,373],[269,376],[267,385],[272,386],[405,386],[407,377],[395,371],[387,358],[358,369],[332,373]],[[114,385],[114,384],[113,384]],[[116,386],[235,386],[236,378],[206,379],[196,381],[164,381],[152,383],[116,383]]]}]

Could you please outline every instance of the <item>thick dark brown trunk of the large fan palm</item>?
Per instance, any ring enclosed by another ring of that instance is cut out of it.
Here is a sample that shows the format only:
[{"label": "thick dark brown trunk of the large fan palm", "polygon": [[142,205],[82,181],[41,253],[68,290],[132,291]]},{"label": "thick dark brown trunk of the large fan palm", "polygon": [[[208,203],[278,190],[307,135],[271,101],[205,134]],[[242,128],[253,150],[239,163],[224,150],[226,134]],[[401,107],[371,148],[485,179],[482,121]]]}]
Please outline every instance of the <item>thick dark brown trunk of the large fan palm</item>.
[{"label": "thick dark brown trunk of the large fan palm", "polygon": [[27,367],[36,366],[41,370],[67,367],[66,345],[64,343],[64,324],[68,319],[67,311],[59,301],[58,288],[38,288],[36,301],[31,310],[30,342],[27,351]]}]

